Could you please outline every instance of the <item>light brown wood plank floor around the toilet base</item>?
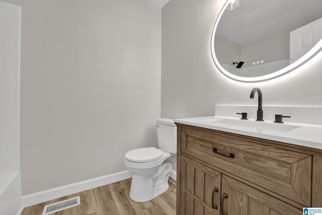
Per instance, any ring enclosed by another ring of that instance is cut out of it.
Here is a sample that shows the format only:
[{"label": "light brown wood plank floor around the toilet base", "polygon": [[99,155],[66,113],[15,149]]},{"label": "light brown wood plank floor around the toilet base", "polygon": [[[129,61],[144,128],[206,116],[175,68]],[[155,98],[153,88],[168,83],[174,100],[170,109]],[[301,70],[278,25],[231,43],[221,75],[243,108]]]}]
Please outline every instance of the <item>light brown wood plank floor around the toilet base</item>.
[{"label": "light brown wood plank floor around the toilet base", "polygon": [[43,202],[23,209],[21,215],[42,214],[47,204],[67,198],[81,196],[81,204],[54,215],[104,215],[104,214],[176,214],[176,181],[169,179],[169,190],[164,194],[143,203],[132,201],[129,197],[131,179],[75,193],[55,200]]}]

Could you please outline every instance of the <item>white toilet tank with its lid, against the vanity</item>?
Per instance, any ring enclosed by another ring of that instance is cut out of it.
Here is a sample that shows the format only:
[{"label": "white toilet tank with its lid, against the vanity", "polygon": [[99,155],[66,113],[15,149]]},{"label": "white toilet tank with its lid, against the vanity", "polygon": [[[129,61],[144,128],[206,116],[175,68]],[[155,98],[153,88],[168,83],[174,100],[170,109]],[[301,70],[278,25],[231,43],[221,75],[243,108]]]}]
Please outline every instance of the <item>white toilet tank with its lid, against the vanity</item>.
[{"label": "white toilet tank with its lid, against the vanity", "polygon": [[177,154],[177,126],[173,119],[156,119],[156,133],[159,148]]}]

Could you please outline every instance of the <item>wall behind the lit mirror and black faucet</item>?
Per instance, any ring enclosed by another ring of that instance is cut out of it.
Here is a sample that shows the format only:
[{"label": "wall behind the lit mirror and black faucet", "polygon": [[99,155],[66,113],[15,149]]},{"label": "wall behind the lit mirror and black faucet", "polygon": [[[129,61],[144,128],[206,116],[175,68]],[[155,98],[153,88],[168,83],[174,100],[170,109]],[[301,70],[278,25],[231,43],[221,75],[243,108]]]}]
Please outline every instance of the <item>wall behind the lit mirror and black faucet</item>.
[{"label": "wall behind the lit mirror and black faucet", "polygon": [[260,87],[263,105],[322,106],[322,52],[279,79],[239,83],[224,77],[211,58],[210,39],[224,1],[172,0],[162,10],[161,116],[214,115],[216,104],[257,105],[251,90]]}]

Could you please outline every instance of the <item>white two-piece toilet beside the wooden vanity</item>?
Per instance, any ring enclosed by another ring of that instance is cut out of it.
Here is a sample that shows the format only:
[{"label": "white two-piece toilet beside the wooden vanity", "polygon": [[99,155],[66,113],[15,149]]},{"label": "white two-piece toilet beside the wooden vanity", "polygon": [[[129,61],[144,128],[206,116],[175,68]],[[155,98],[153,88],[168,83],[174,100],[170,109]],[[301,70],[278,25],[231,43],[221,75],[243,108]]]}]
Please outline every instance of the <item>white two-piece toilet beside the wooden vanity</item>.
[{"label": "white two-piece toilet beside the wooden vanity", "polygon": [[140,148],[125,154],[124,164],[133,173],[130,189],[133,201],[149,201],[169,189],[173,167],[170,157],[177,154],[177,126],[172,119],[157,119],[156,133],[159,149]]}]

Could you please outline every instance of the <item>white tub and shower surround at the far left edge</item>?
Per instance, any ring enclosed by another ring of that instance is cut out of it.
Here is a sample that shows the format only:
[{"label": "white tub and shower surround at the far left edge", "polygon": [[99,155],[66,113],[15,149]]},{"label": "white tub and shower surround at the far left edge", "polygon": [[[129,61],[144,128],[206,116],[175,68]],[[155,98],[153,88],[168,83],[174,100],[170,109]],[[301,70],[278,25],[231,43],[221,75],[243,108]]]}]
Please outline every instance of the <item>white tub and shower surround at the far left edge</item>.
[{"label": "white tub and shower surround at the far left edge", "polygon": [[21,210],[19,146],[19,6],[0,1],[0,211]]}]

